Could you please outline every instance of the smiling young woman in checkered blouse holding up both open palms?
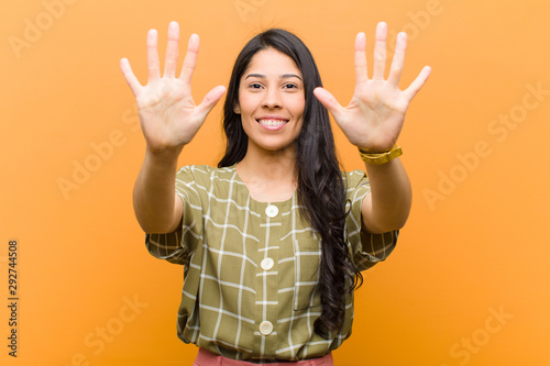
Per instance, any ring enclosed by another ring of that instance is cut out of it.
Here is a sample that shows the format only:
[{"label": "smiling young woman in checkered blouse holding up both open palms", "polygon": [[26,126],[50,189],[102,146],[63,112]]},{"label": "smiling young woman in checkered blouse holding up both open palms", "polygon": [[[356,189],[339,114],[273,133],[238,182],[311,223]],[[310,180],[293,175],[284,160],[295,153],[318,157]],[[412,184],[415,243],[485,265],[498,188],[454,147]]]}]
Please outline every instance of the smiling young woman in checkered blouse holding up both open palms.
[{"label": "smiling young woman in checkered blouse holding up both open palms", "polygon": [[[342,107],[322,88],[304,43],[283,30],[241,51],[224,103],[226,154],[218,167],[177,158],[226,92],[200,104],[190,81],[199,40],[191,35],[176,77],[179,29],[168,27],[164,76],[157,35],[147,34],[148,82],[128,59],[146,154],[134,187],[151,254],[184,265],[178,336],[199,346],[196,365],[332,365],[351,334],[361,270],[393,251],[411,201],[396,142],[405,112],[427,80],[398,82],[406,35],[397,37],[387,79],[385,23],[376,29],[373,77],[365,35],[355,40],[355,93]],[[328,111],[365,162],[340,171]]]}]

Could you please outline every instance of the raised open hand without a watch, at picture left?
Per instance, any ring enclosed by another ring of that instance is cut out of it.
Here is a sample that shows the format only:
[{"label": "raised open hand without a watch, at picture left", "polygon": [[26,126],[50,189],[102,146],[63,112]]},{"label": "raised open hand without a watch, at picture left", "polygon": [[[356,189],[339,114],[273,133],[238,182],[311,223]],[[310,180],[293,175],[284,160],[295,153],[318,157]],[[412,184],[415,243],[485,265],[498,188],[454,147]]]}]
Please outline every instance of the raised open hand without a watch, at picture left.
[{"label": "raised open hand without a watch, at picture left", "polygon": [[195,104],[191,96],[191,77],[197,64],[199,36],[191,34],[187,54],[179,77],[176,66],[179,45],[179,25],[168,25],[168,43],[164,76],[161,77],[157,32],[147,33],[148,81],[142,86],[132,73],[127,58],[120,60],[120,68],[135,96],[140,123],[145,136],[147,149],[154,154],[179,154],[200,129],[210,110],[226,92],[226,87],[218,86],[210,90],[202,102]]}]

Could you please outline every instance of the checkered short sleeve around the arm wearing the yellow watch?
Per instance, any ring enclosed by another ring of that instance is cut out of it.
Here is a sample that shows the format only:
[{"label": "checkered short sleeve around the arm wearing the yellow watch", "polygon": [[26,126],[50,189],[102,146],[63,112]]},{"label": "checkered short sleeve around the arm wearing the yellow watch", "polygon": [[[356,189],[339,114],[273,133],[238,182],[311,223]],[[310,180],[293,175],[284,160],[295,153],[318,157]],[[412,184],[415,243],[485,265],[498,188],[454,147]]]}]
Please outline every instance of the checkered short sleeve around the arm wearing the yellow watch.
[{"label": "checkered short sleeve around the arm wearing the yellow watch", "polygon": [[363,170],[353,170],[345,175],[344,185],[349,200],[346,209],[350,211],[345,220],[348,245],[355,267],[359,270],[369,269],[393,252],[399,231],[371,234],[361,230],[361,203],[371,191],[369,179]]}]

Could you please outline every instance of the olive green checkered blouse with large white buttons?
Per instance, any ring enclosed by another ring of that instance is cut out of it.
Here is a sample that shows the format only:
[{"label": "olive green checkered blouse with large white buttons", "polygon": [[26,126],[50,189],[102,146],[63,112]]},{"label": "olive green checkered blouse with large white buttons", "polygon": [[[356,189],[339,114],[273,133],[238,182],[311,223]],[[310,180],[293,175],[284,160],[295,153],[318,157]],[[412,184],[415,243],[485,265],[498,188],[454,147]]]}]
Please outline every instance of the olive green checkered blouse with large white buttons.
[{"label": "olive green checkered blouse with large white buttons", "polygon": [[[361,270],[384,260],[398,232],[361,231],[366,176],[344,176],[351,213],[346,240]],[[233,359],[260,363],[320,357],[350,336],[353,295],[345,320],[329,340],[314,332],[320,315],[319,236],[301,219],[296,193],[283,202],[258,202],[235,167],[186,166],[176,176],[184,202],[180,230],[146,235],[152,255],[184,265],[177,333]]]}]

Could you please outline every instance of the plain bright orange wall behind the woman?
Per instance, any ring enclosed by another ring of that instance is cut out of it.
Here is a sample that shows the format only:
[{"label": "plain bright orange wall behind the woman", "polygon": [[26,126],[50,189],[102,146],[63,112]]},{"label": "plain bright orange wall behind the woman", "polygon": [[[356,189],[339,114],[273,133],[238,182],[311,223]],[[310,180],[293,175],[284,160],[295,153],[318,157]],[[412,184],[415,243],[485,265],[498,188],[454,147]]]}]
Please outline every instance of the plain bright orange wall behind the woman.
[{"label": "plain bright orange wall behind the woman", "polygon": [[[364,274],[337,365],[550,359],[547,1],[26,0],[0,10],[2,365],[195,357],[176,337],[183,268],[146,253],[133,217],[145,145],[119,69],[128,57],[145,82],[145,34],[158,30],[163,55],[172,20],[182,54],[191,32],[201,37],[196,100],[227,85],[251,36],[278,26],[307,43],[324,86],[345,104],[354,35],[366,32],[372,52],[378,21],[392,41],[406,31],[402,88],[432,67],[399,138],[414,207],[394,254]],[[220,114],[218,106],[182,165],[217,164]],[[344,168],[361,168],[356,149],[336,135]]]}]

